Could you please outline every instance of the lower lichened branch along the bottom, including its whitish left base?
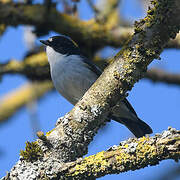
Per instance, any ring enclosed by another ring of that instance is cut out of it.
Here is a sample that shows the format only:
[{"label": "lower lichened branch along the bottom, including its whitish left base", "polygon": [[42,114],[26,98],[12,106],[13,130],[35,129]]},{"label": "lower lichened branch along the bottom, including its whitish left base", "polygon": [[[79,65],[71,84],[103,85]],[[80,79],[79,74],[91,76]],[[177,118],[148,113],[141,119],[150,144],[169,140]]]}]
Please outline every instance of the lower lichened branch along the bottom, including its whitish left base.
[{"label": "lower lichened branch along the bottom, including its whitish left base", "polygon": [[[49,164],[47,160],[45,162],[38,160],[36,163],[28,163],[21,158],[11,170],[8,179],[28,180],[34,177],[32,172],[36,172],[38,179],[45,177],[61,180],[96,179],[107,174],[119,174],[149,165],[157,165],[165,159],[175,161],[180,159],[180,131],[174,128],[168,128],[162,134],[157,134],[151,138],[131,138],[107,151],[65,164],[61,164],[58,160],[54,162],[55,165]],[[54,169],[54,174],[51,177],[49,177],[51,171],[48,171],[48,169]]]}]

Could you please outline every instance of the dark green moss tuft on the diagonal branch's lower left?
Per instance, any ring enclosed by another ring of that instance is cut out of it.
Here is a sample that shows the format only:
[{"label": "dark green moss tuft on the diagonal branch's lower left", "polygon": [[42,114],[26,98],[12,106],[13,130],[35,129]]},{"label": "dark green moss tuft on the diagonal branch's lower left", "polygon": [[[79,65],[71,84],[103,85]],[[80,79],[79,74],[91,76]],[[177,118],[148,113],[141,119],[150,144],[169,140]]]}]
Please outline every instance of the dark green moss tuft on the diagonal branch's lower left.
[{"label": "dark green moss tuft on the diagonal branch's lower left", "polygon": [[37,142],[26,142],[25,150],[20,151],[20,156],[26,161],[36,161],[42,157],[43,152]]}]

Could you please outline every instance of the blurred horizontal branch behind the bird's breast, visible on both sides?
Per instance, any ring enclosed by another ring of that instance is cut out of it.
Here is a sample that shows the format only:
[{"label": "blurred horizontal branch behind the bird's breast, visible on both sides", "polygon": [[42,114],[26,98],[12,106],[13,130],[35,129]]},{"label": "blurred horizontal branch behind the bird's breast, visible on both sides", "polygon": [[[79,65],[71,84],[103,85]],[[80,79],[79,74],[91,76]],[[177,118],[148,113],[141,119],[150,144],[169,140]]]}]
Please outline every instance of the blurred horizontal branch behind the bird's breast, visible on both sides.
[{"label": "blurred horizontal branch behind the bird's breast, visible on both sides", "polygon": [[[108,60],[94,57],[94,63],[102,70],[108,65]],[[5,74],[22,74],[31,80],[48,80],[51,79],[49,72],[47,56],[40,52],[25,58],[23,61],[11,60],[6,64],[0,64],[0,76]],[[180,74],[168,73],[162,69],[149,69],[144,78],[153,82],[162,82],[167,84],[180,85]]]}]

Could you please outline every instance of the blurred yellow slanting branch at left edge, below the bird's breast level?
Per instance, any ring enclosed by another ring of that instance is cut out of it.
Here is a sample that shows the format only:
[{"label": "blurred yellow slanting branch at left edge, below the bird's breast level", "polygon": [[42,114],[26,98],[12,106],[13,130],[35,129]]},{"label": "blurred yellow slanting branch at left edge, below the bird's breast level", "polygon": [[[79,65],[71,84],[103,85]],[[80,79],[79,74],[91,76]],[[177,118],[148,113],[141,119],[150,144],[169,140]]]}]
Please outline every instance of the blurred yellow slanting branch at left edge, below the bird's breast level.
[{"label": "blurred yellow slanting branch at left edge, below the bird's breast level", "polygon": [[39,99],[53,88],[51,81],[33,82],[23,85],[7,96],[0,98],[0,123],[11,117],[25,104]]}]

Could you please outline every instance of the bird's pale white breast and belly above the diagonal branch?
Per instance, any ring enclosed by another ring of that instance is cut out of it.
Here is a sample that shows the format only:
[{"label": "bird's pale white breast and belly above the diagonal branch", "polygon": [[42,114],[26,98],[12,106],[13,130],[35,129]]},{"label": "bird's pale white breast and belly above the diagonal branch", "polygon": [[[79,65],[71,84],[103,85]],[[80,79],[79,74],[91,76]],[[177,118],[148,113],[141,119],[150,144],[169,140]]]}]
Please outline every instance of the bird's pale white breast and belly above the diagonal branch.
[{"label": "bird's pale white breast and belly above the diagonal branch", "polygon": [[47,47],[46,53],[54,86],[68,101],[76,104],[98,76],[78,55],[66,56],[51,47]]}]

